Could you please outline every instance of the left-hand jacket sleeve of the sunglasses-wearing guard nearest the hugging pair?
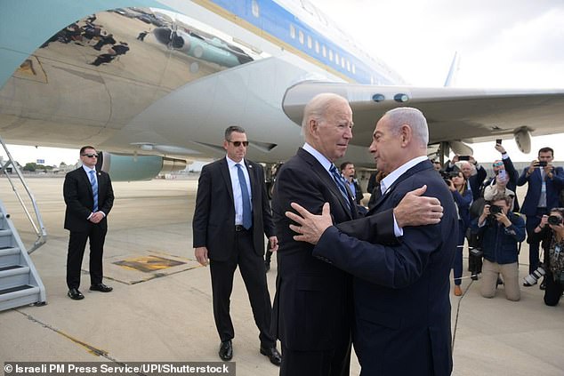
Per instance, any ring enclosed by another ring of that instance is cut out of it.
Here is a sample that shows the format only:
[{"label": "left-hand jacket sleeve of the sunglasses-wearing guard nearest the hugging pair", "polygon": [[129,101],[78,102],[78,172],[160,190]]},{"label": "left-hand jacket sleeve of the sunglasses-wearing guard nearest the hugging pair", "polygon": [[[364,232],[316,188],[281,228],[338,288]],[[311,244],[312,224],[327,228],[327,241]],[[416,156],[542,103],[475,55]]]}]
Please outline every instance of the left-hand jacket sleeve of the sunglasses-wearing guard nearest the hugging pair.
[{"label": "left-hand jacket sleeve of the sunglasses-wearing guard nearest the hugging pair", "polygon": [[207,238],[207,223],[212,199],[212,176],[209,168],[202,168],[197,180],[196,208],[192,220],[192,236],[194,248],[204,247]]}]

